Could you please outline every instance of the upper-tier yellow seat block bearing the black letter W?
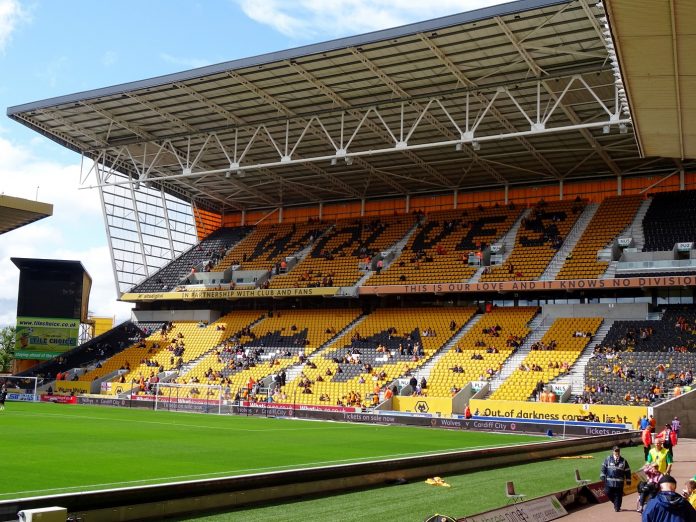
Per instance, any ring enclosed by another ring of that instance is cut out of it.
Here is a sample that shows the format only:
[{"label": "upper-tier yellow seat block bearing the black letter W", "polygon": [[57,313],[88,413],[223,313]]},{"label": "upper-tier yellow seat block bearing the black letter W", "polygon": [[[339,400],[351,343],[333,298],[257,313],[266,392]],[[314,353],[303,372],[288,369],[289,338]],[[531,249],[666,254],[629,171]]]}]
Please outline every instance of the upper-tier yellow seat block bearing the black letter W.
[{"label": "upper-tier yellow seat block bearing the black letter W", "polygon": [[220,261],[216,270],[241,265],[241,270],[271,270],[285,258],[307,247],[327,225],[274,223],[259,225]]}]

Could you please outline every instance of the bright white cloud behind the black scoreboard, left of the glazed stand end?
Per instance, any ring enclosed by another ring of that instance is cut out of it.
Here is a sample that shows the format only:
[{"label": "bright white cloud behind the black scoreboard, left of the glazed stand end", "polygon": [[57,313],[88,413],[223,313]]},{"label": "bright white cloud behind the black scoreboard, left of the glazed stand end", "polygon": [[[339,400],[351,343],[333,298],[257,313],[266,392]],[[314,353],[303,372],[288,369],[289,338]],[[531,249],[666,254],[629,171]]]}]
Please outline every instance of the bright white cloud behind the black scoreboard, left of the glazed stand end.
[{"label": "bright white cloud behind the black scoreboard, left of the glazed stand end", "polygon": [[116,301],[106,233],[95,191],[79,190],[79,162],[35,157],[0,135],[0,192],[53,205],[53,215],[0,236],[0,326],[15,323],[19,270],[11,257],[80,261],[92,277],[89,310],[129,318],[131,305]]}]

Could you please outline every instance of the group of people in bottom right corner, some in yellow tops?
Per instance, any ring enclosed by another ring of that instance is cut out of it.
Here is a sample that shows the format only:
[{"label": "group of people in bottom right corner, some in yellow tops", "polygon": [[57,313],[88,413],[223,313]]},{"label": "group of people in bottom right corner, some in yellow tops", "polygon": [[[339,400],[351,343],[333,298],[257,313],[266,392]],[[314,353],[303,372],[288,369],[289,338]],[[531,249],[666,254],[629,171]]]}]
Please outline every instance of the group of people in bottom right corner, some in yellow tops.
[{"label": "group of people in bottom right corner, some in yellow tops", "polygon": [[[696,480],[688,480],[684,490],[678,493],[677,481],[671,474],[673,449],[681,430],[679,418],[674,417],[657,435],[653,435],[656,421],[652,415],[649,419],[642,417],[639,422],[645,451],[641,471],[645,480],[638,484],[636,511],[643,514],[643,522],[696,522]],[[614,511],[621,511],[624,484],[630,485],[631,477],[631,468],[621,456],[621,448],[614,446],[600,472]]]}]

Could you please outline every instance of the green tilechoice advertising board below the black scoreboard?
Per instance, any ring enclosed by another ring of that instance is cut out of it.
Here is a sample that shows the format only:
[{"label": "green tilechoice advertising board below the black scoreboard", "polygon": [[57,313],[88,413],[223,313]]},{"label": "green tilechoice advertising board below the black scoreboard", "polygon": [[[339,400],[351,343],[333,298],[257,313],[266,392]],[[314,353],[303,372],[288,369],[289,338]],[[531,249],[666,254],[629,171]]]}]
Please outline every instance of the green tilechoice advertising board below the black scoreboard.
[{"label": "green tilechoice advertising board below the black scoreboard", "polygon": [[48,360],[77,346],[79,319],[17,317],[17,359]]}]

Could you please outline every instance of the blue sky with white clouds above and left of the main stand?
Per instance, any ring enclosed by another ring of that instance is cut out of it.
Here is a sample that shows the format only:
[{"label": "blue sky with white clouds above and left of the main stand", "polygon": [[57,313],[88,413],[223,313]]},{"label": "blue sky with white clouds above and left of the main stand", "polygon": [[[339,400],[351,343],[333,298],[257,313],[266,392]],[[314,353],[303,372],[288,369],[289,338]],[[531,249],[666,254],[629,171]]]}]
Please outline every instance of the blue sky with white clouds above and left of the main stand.
[{"label": "blue sky with white clouds above and left of the main stand", "polygon": [[53,216],[0,236],[0,326],[14,324],[10,257],[79,260],[90,311],[116,301],[96,190],[80,157],[5,116],[6,108],[503,3],[500,0],[0,0],[0,193],[54,205]]}]

